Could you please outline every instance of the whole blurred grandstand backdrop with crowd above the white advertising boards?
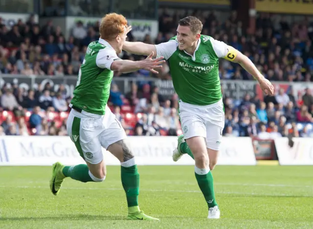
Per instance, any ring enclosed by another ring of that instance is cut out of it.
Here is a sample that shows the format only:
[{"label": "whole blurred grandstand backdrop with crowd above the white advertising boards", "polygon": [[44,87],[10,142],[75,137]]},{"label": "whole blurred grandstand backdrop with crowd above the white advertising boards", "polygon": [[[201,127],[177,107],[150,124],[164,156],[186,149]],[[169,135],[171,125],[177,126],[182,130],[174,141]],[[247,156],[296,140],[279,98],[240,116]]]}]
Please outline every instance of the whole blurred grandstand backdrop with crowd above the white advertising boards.
[{"label": "whole blurred grandstand backdrop with crowd above the white advertising boards", "polygon": [[[274,96],[264,96],[240,65],[220,61],[224,136],[252,137],[264,158],[277,137],[313,137],[313,4],[271,0],[1,0],[0,135],[67,135],[80,64],[109,12],[128,19],[130,41],[152,44],[175,36],[179,19],[196,16],[202,34],[256,64]],[[157,75],[114,72],[109,105],[128,135],[181,134],[178,100],[167,63]]]}]

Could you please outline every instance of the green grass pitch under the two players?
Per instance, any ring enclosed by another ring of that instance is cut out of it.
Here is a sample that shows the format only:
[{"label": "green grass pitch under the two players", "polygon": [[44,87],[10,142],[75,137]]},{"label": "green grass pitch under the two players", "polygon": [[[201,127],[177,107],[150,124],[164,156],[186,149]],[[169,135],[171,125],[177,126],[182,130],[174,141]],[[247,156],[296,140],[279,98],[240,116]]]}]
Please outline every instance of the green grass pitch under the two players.
[{"label": "green grass pitch under the two players", "polygon": [[140,208],[160,222],[127,221],[120,167],[103,183],[67,178],[49,190],[52,167],[0,167],[1,229],[313,228],[313,167],[217,166],[221,219],[207,205],[193,166],[139,166]]}]

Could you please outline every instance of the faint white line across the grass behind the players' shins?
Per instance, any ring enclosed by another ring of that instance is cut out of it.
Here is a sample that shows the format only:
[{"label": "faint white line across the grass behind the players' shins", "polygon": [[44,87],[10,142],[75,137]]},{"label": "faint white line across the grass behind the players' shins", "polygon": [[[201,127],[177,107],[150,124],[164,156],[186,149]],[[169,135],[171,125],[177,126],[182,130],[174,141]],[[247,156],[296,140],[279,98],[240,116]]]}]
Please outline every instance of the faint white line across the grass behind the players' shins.
[{"label": "faint white line across the grass behind the players' shins", "polygon": [[[44,186],[0,186],[0,188],[43,188],[43,189],[49,189],[49,187]],[[120,190],[122,191],[122,188],[97,188],[97,187],[62,187],[62,189],[86,189],[86,190]],[[151,191],[151,192],[183,192],[183,193],[201,193],[201,191],[197,190],[161,190],[161,189],[140,189],[141,191]],[[255,193],[255,192],[224,192],[224,191],[217,191],[218,194],[238,194],[238,195],[253,195],[253,196],[294,196],[294,194],[274,194],[274,193]],[[299,195],[301,197],[313,197],[312,195]]]}]

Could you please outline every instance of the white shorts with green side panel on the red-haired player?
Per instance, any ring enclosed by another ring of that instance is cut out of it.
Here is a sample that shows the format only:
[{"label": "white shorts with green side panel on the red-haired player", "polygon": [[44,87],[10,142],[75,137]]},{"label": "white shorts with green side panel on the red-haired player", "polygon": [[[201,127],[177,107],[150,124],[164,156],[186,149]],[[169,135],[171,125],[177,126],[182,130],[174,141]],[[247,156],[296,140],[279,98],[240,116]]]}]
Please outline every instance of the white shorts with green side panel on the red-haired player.
[{"label": "white shorts with green side panel on the red-haired player", "polygon": [[99,117],[86,114],[70,111],[67,134],[86,162],[98,164],[103,160],[102,147],[108,149],[113,143],[126,139],[126,133],[109,107],[105,115]]}]

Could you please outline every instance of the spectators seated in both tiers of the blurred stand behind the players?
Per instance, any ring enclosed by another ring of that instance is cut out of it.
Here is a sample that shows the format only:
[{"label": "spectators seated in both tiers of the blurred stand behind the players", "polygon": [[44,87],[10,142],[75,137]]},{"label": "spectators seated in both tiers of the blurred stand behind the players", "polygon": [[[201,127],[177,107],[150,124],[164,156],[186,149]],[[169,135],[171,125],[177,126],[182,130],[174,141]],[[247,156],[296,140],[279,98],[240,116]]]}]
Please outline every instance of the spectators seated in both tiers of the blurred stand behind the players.
[{"label": "spectators seated in both tiers of the blurred stand behind the players", "polygon": [[[269,14],[257,19],[256,33],[247,35],[242,22],[233,12],[226,21],[220,21],[214,12],[196,11],[203,21],[202,34],[228,43],[256,64],[270,81],[312,82],[313,25],[272,21]],[[159,13],[159,33],[155,41],[147,34],[143,42],[161,43],[175,36],[181,10]],[[78,21],[66,40],[61,27],[48,21],[40,27],[30,17],[18,21],[12,28],[4,26],[0,18],[0,73],[23,75],[64,76],[77,75],[89,42],[98,40],[99,23],[86,27]],[[130,33],[129,40],[135,40]],[[141,60],[142,56],[122,52],[122,59]],[[114,72],[114,77],[121,76]],[[139,70],[124,74],[129,77],[171,79],[165,63],[158,75]],[[221,60],[220,78],[252,80],[238,64]],[[25,91],[16,84],[1,88],[0,135],[66,135],[68,103],[64,86],[58,91],[47,83],[44,88]],[[157,87],[149,83],[133,83],[125,95],[112,83],[110,107],[129,135],[178,135],[181,126],[177,116],[178,96],[165,99]],[[225,136],[313,136],[313,96],[310,89],[296,98],[284,90],[264,102],[246,95],[241,101],[224,97]]]}]

